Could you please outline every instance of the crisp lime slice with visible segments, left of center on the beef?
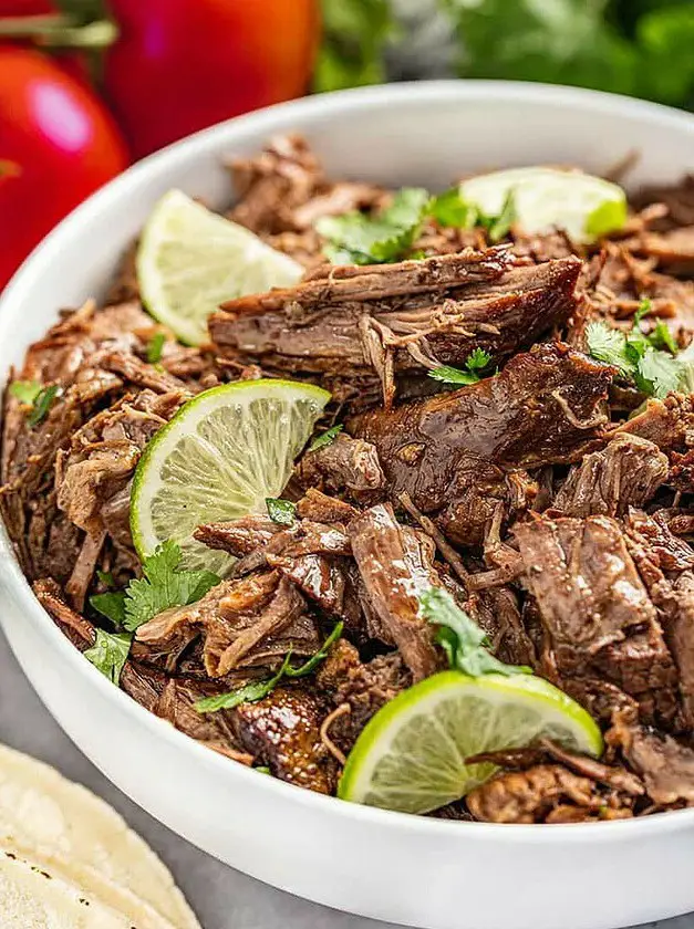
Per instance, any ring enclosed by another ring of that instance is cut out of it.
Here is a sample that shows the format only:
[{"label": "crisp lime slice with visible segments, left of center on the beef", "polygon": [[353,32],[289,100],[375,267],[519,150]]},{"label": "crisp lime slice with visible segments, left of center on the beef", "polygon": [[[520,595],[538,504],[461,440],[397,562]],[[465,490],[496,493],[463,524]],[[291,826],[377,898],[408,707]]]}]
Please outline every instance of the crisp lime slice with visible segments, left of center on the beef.
[{"label": "crisp lime slice with visible segments, left of center on the beef", "polygon": [[239,380],[185,404],[146,446],[131,492],[141,559],[167,539],[188,568],[225,574],[232,559],[191,536],[206,522],[265,513],[279,497],[330,394],[291,380]]}]

